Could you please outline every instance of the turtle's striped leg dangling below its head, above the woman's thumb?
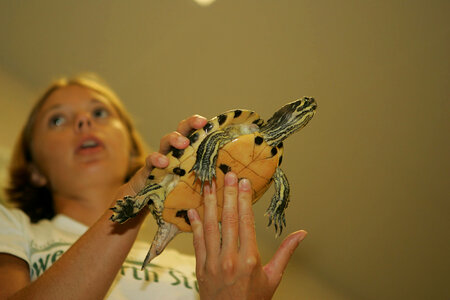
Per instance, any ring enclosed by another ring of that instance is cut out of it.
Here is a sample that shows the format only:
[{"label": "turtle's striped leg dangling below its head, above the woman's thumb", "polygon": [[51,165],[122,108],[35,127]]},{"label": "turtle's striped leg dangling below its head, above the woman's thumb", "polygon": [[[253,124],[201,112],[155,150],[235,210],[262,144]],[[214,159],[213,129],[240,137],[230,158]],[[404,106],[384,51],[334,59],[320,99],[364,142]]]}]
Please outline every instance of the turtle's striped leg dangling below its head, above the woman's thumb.
[{"label": "turtle's striped leg dangling below its head, above the woman's thumb", "polygon": [[275,236],[278,237],[286,226],[286,208],[289,204],[289,182],[284,172],[277,168],[273,175],[275,181],[275,194],[270,201],[269,207],[266,210],[266,216],[269,217],[269,224],[274,224]]}]

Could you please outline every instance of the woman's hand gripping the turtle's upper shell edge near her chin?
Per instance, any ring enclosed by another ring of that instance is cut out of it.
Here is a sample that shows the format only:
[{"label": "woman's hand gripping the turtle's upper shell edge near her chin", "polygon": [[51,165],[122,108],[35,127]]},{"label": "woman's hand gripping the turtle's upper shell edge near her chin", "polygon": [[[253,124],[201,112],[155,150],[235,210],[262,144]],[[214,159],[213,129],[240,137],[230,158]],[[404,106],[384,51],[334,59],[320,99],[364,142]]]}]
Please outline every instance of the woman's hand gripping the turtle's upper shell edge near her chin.
[{"label": "woman's hand gripping the turtle's upper shell edge near her chin", "polygon": [[166,154],[171,147],[185,149],[189,146],[187,136],[192,130],[200,129],[205,126],[207,119],[199,115],[193,115],[178,124],[177,130],[162,137],[159,144],[159,151],[153,152],[147,156],[145,166],[140,168],[136,174],[120,189],[116,196],[117,199],[124,196],[136,195],[145,185],[145,182],[153,168],[165,168],[169,164]]}]

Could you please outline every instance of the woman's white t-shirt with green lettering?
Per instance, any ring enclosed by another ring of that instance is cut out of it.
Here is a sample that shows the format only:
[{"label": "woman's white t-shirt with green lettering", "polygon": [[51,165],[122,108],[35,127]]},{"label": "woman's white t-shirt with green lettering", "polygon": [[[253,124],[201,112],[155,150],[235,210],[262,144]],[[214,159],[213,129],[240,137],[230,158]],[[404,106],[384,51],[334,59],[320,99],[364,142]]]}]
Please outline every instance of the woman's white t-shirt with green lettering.
[{"label": "woman's white t-shirt with green lettering", "polygon": [[[26,261],[31,280],[86,230],[87,226],[65,215],[32,224],[22,211],[0,204],[0,253]],[[141,271],[148,248],[148,243],[135,242],[105,299],[199,299],[195,258],[166,249]]]}]

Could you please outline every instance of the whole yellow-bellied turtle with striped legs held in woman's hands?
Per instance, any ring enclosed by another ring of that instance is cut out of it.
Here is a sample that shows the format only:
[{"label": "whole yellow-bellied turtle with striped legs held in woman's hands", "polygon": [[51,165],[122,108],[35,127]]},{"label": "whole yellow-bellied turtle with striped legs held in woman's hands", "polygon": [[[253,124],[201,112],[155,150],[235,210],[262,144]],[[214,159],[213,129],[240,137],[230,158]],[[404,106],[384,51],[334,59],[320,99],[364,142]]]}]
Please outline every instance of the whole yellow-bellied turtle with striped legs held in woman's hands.
[{"label": "whole yellow-bellied turtle with striped legs held in woman's hands", "polygon": [[158,256],[180,232],[191,232],[187,211],[197,209],[203,219],[203,187],[216,180],[218,222],[221,220],[223,177],[233,171],[238,178],[252,184],[253,203],[266,192],[272,182],[275,194],[267,208],[269,224],[275,235],[286,226],[285,210],[290,186],[280,165],[283,141],[303,128],[317,108],[312,97],[303,97],[282,106],[265,122],[250,110],[224,112],[188,135],[189,146],[171,148],[169,165],[154,168],[144,186],[135,196],[117,200],[111,208],[111,220],[124,223],[148,207],[158,230],[144,259],[144,268]]}]

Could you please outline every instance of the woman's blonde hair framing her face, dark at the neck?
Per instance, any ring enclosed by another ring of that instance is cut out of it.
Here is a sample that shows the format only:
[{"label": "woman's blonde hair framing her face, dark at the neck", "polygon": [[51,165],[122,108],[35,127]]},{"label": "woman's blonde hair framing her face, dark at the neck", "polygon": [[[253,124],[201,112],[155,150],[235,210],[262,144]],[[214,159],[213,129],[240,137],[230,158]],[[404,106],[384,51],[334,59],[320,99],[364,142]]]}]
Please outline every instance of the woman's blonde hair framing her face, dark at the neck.
[{"label": "woman's blonde hair framing her face, dark at the neck", "polygon": [[34,104],[18,137],[9,167],[9,186],[5,189],[9,202],[23,210],[32,222],[51,219],[55,215],[53,197],[49,188],[46,186],[38,187],[31,181],[30,165],[33,163],[31,139],[36,116],[53,92],[69,85],[79,85],[101,94],[116,109],[128,130],[131,141],[130,168],[126,180],[129,180],[144,165],[145,143],[120,99],[101,78],[95,74],[86,73],[73,78],[63,77],[55,80]]}]

